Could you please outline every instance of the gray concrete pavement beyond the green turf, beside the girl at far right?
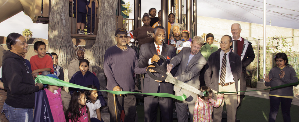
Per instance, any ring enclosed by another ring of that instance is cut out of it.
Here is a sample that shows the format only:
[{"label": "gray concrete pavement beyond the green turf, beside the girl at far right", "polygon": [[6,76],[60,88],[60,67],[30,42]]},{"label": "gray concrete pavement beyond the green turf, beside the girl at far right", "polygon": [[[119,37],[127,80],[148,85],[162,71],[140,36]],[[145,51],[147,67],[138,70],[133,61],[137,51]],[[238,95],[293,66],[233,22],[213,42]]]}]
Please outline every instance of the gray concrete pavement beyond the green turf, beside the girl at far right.
[{"label": "gray concrete pavement beyond the green turf, beside the girl at far right", "polygon": [[[269,92],[266,92],[266,91],[250,91],[250,90],[257,90],[257,89],[247,87],[248,92],[246,92],[245,95],[269,99]],[[294,95],[292,104],[299,106],[299,95]]]}]

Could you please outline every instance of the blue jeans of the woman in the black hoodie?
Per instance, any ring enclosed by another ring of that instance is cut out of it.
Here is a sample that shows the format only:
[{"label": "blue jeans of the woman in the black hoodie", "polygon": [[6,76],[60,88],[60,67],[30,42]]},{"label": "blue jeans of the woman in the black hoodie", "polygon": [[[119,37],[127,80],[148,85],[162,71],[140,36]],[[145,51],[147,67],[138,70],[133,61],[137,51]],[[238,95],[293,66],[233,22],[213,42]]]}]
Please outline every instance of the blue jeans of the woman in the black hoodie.
[{"label": "blue jeans of the woman in the black hoodie", "polygon": [[[33,108],[19,109],[3,104],[2,112],[9,122],[32,122],[33,121]],[[1,112],[1,113],[2,113]]]}]

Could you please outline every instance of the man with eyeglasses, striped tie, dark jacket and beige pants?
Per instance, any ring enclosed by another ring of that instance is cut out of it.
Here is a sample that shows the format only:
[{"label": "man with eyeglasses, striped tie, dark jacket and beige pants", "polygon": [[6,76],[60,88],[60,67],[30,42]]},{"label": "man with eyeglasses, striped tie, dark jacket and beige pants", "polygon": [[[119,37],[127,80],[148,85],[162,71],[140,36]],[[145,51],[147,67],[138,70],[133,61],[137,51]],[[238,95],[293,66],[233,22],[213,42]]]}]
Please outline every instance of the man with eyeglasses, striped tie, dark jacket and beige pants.
[{"label": "man with eyeglasses, striped tie, dark jacket and beige pants", "polygon": [[[216,52],[208,58],[206,72],[204,73],[205,83],[213,92],[212,98],[217,100],[217,92],[238,90],[238,80],[241,77],[242,62],[238,54],[230,49],[232,37],[224,35],[221,38],[220,46]],[[213,73],[212,73],[213,72]],[[212,76],[211,76],[212,75]],[[228,122],[236,121],[237,93],[226,93],[219,108],[213,108],[213,122],[221,122],[223,105],[226,105]]]}]

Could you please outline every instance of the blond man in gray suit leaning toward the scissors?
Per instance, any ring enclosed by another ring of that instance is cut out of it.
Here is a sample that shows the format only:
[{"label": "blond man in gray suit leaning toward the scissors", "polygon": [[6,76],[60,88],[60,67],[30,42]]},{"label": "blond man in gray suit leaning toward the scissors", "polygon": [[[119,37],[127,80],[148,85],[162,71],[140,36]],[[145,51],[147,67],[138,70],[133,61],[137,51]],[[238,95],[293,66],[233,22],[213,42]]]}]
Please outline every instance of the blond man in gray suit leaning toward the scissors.
[{"label": "blond man in gray suit leaning toward the scissors", "polygon": [[[199,72],[206,65],[207,61],[200,52],[200,48],[204,44],[204,39],[195,36],[191,42],[191,48],[184,47],[178,55],[173,57],[167,67],[168,73],[174,66],[178,66],[175,78],[185,82],[197,89],[200,88]],[[187,106],[189,108],[190,120],[193,122],[194,105],[197,94],[188,91],[182,87],[174,86],[175,95],[181,96],[185,94],[186,100],[175,100],[175,108],[179,122],[188,122]]]}]

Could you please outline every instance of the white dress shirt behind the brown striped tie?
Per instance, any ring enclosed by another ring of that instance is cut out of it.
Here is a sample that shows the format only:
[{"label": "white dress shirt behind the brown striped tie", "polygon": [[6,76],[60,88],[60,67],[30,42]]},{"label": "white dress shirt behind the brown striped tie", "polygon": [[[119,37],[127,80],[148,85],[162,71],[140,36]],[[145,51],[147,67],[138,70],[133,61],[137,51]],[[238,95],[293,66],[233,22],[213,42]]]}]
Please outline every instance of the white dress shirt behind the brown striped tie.
[{"label": "white dress shirt behind the brown striped tie", "polygon": [[[229,49],[229,52],[231,50]],[[229,52],[226,53],[226,73],[225,73],[225,83],[234,83],[234,76],[232,76],[232,70],[230,68],[230,64],[229,64]],[[221,76],[221,67],[222,67],[222,59],[224,56],[224,52],[223,50],[221,50],[220,52],[220,70],[219,70],[219,81],[218,83],[220,83],[220,76]]]}]

